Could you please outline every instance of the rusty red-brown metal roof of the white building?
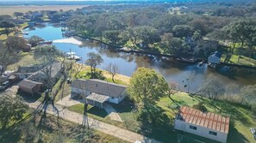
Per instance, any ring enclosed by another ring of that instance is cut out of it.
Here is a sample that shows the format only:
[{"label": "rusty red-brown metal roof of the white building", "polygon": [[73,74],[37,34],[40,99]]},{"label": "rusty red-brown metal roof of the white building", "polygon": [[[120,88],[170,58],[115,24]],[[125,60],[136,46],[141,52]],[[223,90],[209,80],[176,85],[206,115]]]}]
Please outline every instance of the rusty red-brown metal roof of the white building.
[{"label": "rusty red-brown metal roof of the white building", "polygon": [[203,113],[200,110],[182,106],[176,119],[204,128],[228,133],[229,117],[220,116],[215,113]]}]

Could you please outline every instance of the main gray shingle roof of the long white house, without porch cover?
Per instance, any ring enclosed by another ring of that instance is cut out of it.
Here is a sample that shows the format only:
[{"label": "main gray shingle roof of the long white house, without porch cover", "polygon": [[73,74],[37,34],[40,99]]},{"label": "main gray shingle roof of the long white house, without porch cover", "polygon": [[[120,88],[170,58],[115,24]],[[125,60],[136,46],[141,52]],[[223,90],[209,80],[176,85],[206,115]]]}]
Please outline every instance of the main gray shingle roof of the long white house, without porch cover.
[{"label": "main gray shingle roof of the long white house, without porch cover", "polygon": [[110,83],[104,80],[74,80],[72,82],[72,87],[78,89],[88,90],[90,92],[96,92],[98,94],[103,94],[109,97],[120,97],[122,92],[126,90],[127,86],[118,85],[115,83]]}]

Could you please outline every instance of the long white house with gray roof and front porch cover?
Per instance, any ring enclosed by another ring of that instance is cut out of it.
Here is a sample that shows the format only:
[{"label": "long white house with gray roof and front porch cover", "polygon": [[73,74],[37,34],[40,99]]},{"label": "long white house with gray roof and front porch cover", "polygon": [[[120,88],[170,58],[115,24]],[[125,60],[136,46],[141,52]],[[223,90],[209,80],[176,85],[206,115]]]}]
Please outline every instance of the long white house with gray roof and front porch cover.
[{"label": "long white house with gray roof and front porch cover", "polygon": [[88,104],[103,108],[104,102],[119,104],[126,94],[127,86],[110,83],[104,80],[74,80],[71,98],[84,96]]}]

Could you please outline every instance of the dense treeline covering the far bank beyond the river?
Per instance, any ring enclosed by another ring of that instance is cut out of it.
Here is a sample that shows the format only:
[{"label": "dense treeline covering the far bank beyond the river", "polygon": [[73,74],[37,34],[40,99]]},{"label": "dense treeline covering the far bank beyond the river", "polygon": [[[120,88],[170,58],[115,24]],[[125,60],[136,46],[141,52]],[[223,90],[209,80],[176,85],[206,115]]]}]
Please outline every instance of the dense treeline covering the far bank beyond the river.
[{"label": "dense treeline covering the far bank beyond the river", "polygon": [[[220,48],[220,41],[250,46],[247,53],[255,52],[256,21],[252,17],[182,14],[173,11],[168,4],[141,9],[104,8],[77,9],[67,21],[68,27],[84,38],[176,57],[209,57]],[[247,23],[251,24],[246,27],[247,33],[243,33],[243,25]],[[240,39],[245,34],[251,35],[252,39]],[[229,51],[233,52],[232,49]]]}]

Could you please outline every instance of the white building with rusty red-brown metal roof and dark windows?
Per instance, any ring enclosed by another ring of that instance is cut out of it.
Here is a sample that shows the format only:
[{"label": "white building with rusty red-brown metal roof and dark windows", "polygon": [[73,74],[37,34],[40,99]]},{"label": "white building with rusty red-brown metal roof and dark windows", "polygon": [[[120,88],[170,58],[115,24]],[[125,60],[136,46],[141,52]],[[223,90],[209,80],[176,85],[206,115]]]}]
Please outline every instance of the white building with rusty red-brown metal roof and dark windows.
[{"label": "white building with rusty red-brown metal roof and dark windows", "polygon": [[175,118],[174,128],[197,134],[207,139],[222,143],[227,142],[229,117],[215,113],[203,113],[190,107],[182,106]]}]

